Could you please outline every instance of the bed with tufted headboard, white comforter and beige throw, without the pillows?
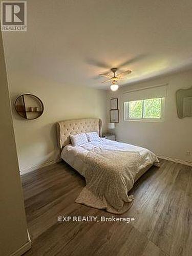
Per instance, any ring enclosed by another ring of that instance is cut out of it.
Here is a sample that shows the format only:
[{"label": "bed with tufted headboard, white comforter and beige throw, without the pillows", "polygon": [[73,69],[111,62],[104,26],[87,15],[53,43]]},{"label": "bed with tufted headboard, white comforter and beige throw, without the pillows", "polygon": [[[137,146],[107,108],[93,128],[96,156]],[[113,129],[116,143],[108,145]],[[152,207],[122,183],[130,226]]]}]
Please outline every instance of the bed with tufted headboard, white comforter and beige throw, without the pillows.
[{"label": "bed with tufted headboard, white comforter and beige throw, without the pillows", "polygon": [[[71,135],[90,132],[98,138],[78,146],[71,144]],[[159,166],[159,160],[146,148],[101,138],[101,134],[98,118],[57,122],[61,159],[86,179],[76,202],[123,214],[134,201],[130,189],[152,165]]]}]

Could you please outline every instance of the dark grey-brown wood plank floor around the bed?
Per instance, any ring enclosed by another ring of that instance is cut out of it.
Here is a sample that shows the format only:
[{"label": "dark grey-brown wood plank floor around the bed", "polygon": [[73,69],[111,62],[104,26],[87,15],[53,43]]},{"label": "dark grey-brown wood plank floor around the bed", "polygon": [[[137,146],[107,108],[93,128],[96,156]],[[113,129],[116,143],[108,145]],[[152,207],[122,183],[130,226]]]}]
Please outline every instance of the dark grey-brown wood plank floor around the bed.
[{"label": "dark grey-brown wood plank floor around the bed", "polygon": [[192,168],[160,161],[134,185],[132,223],[58,222],[105,216],[75,203],[84,179],[64,162],[22,176],[32,249],[25,255],[192,255]]}]

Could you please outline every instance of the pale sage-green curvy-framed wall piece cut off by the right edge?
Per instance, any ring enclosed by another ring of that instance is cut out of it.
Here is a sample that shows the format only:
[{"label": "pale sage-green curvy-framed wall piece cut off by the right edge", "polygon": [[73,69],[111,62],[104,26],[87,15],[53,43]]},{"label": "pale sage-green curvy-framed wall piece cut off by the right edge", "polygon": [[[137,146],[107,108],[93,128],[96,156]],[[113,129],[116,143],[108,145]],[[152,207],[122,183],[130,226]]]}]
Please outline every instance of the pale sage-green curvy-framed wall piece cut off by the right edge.
[{"label": "pale sage-green curvy-framed wall piece cut off by the right edge", "polygon": [[176,92],[177,115],[179,118],[192,117],[192,87]]}]

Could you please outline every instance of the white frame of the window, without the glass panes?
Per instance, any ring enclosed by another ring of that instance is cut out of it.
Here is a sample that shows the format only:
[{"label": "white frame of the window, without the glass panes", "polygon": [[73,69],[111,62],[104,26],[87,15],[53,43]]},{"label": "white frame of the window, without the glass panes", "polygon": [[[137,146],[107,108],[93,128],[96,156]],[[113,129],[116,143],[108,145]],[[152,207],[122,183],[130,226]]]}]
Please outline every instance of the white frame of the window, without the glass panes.
[{"label": "white frame of the window, without the glass panes", "polygon": [[[143,118],[143,112],[144,112],[144,100],[146,99],[139,99],[139,100],[130,100],[124,102],[124,121],[140,121],[140,122],[162,122],[164,121],[165,117],[165,97],[159,97],[161,98],[161,118]],[[153,98],[157,99],[157,98]],[[142,117],[140,118],[131,118],[129,117],[129,102],[131,101],[140,101],[142,100]]]}]

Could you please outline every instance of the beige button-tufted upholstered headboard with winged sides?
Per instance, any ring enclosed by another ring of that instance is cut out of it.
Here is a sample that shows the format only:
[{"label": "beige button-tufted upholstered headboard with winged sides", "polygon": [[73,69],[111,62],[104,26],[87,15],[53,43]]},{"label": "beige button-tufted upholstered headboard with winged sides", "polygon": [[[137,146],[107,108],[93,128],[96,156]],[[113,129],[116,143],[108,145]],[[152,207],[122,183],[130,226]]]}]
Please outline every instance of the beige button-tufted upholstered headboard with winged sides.
[{"label": "beige button-tufted upholstered headboard with winged sides", "polygon": [[77,133],[102,133],[102,121],[99,118],[70,119],[56,123],[59,147],[70,144],[70,135]]}]

